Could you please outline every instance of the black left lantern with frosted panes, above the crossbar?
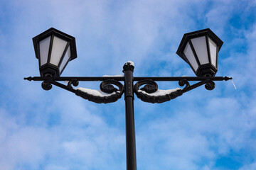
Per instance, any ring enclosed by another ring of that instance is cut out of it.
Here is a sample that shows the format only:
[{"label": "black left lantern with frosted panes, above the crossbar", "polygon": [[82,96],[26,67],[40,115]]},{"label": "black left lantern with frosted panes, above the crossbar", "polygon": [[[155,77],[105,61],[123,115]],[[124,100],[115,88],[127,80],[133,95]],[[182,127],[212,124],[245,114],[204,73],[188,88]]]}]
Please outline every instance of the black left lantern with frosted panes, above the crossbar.
[{"label": "black left lantern with frosted panes, above the crossbar", "polygon": [[41,77],[60,77],[70,60],[77,57],[75,38],[50,28],[33,38]]}]

